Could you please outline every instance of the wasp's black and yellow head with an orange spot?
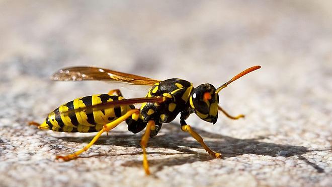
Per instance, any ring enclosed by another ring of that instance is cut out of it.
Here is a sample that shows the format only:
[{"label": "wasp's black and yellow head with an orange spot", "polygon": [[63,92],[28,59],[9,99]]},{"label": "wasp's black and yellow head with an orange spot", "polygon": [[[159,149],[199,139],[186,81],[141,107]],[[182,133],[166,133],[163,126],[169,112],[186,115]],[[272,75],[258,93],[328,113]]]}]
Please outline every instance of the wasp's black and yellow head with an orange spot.
[{"label": "wasp's black and yellow head with an orange spot", "polygon": [[212,122],[218,119],[219,96],[211,84],[201,84],[190,95],[190,106],[203,120]]}]

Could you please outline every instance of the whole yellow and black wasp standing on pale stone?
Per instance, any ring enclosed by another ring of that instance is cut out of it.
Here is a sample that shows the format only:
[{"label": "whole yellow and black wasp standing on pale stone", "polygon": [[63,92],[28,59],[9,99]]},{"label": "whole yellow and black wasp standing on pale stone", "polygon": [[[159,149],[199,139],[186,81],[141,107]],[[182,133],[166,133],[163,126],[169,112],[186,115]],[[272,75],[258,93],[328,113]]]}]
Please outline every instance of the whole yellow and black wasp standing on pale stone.
[{"label": "whole yellow and black wasp standing on pale stone", "polygon": [[[43,123],[31,121],[29,124],[33,124],[39,129],[57,132],[98,132],[83,149],[73,154],[56,156],[56,159],[69,161],[87,151],[104,132],[108,134],[121,122],[126,121],[128,130],[134,134],[145,129],[140,144],[143,152],[143,168],[145,173],[149,174],[145,150],[149,138],[155,137],[163,123],[173,121],[180,113],[181,130],[196,139],[213,158],[220,158],[221,154],[212,151],[204,143],[203,138],[186,123],[186,119],[190,114],[195,113],[204,121],[214,124],[218,119],[218,110],[231,119],[244,117],[242,114],[231,116],[223,110],[218,105],[218,93],[238,78],[260,68],[260,66],[248,68],[218,88],[208,83],[194,88],[192,83],[182,79],[173,78],[160,81],[97,67],[65,68],[58,70],[52,79],[57,81],[118,81],[152,87],[142,98],[125,99],[119,89],[111,90],[108,94],[80,97],[60,105],[48,114]],[[134,104],[137,103],[141,103],[140,108],[135,108]]]}]

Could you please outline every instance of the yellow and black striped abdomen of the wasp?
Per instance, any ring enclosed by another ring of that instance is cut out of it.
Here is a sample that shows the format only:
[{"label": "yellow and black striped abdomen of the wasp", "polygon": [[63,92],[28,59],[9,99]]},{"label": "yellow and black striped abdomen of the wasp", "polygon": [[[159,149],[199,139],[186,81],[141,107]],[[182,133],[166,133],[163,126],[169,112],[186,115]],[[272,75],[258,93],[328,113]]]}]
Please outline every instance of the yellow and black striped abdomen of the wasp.
[{"label": "yellow and black striped abdomen of the wasp", "polygon": [[[74,99],[63,104],[51,112],[46,120],[40,125],[41,129],[48,129],[59,132],[97,132],[103,128],[103,125],[113,121],[126,113],[133,105],[116,106],[108,109],[98,110],[89,106],[111,102],[114,100],[123,100],[123,97],[116,95],[92,95]],[[84,111],[67,112],[82,107],[88,107]],[[63,114],[66,112],[66,115]]]}]

